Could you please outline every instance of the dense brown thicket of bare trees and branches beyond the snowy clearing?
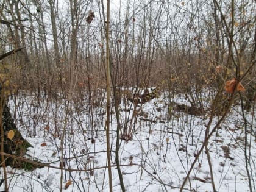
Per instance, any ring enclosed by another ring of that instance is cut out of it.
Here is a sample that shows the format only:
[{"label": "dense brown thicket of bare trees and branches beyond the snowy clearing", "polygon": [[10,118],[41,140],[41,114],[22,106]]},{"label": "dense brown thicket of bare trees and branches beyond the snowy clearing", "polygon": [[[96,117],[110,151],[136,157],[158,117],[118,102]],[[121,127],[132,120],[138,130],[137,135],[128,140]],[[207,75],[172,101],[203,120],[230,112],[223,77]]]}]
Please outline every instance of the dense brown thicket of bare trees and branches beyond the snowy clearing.
[{"label": "dense brown thicket of bare trees and branches beyond the snowy clearing", "polygon": [[[113,7],[111,63],[118,86],[162,84],[187,92],[253,72],[253,2],[121,1]],[[105,10],[100,1],[4,2],[1,52],[26,47],[4,60],[18,68],[16,88],[68,94],[105,87]],[[219,65],[224,75],[216,82]],[[246,88],[252,80],[246,76]]]}]

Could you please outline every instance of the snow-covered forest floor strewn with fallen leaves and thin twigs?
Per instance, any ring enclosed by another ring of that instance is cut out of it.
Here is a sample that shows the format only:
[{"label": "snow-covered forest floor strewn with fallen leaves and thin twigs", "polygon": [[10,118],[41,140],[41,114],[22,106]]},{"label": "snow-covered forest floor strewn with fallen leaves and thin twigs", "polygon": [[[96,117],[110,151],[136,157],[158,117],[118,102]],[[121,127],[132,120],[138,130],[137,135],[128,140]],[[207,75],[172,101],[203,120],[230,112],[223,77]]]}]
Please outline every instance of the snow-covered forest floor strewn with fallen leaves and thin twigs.
[{"label": "snow-covered forest floor strewn with fallen leaves and thin twigs", "polygon": [[[181,97],[172,98],[172,101],[185,102]],[[10,99],[9,102],[21,133],[34,146],[29,148],[28,155],[43,163],[51,163],[51,166],[60,166],[60,139],[66,123],[63,191],[109,190],[105,105],[99,103],[90,107],[87,101],[83,101],[75,107],[62,99],[47,101],[43,96],[36,98],[22,95],[16,101]],[[127,103],[129,107],[133,109]],[[164,94],[143,104],[137,118],[132,118],[132,110],[124,110],[123,103],[121,108],[122,126],[127,121],[133,133],[132,140],[121,140],[119,150],[126,191],[179,191],[204,142],[208,114],[193,116],[182,112],[170,113],[168,98]],[[255,131],[256,117],[253,114],[246,112],[249,122],[247,129]],[[218,119],[218,116],[214,118],[211,129]],[[112,113],[110,132],[113,191],[121,191],[115,166],[115,113]],[[250,152],[251,155],[248,169],[254,186],[256,145],[252,135],[247,134],[247,148],[250,149],[247,154]],[[208,142],[216,190],[249,191],[244,137],[244,119],[240,107],[236,106]],[[45,143],[44,146],[41,146],[42,143]],[[8,167],[7,171],[9,191],[60,191],[60,169],[44,167],[25,171]],[[71,185],[65,188],[69,180]],[[194,166],[185,189],[213,191],[205,150]],[[2,190],[3,184],[0,187]]]}]

